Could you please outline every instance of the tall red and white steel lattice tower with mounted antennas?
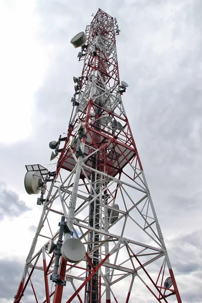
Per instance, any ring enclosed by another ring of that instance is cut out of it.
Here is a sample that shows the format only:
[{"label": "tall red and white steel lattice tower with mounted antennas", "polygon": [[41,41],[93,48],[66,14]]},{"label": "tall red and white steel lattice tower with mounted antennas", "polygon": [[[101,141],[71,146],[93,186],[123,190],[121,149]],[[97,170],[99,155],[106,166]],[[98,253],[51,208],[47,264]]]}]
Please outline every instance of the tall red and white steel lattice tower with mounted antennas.
[{"label": "tall red and white steel lattice tower with mounted antennas", "polygon": [[119,32],[99,9],[71,41],[83,71],[67,137],[49,144],[56,171],[26,166],[42,214],[14,302],[181,303],[122,102]]}]

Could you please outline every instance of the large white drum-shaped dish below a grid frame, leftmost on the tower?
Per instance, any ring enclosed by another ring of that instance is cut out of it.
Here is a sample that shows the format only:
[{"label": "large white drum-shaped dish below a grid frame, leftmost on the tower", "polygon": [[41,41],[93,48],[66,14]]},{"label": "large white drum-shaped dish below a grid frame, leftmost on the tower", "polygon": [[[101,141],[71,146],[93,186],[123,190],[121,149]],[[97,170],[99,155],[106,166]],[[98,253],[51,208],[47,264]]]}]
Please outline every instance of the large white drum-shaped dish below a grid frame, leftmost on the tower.
[{"label": "large white drum-shaped dish below a grid frame, leftmost on the tower", "polygon": [[27,172],[25,175],[25,189],[28,194],[39,193],[43,180],[40,172]]}]

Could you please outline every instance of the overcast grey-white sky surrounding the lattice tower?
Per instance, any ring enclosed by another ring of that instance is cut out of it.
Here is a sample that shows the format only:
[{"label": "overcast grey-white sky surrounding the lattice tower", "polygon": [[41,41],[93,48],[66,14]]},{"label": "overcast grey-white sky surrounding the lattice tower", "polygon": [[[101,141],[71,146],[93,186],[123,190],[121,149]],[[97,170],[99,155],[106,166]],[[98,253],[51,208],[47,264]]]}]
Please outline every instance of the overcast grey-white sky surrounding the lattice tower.
[{"label": "overcast grey-white sky surrounding the lattice tower", "polygon": [[182,301],[201,303],[200,0],[0,4],[0,300],[13,301],[41,212],[25,192],[25,164],[48,165],[48,142],[67,130],[82,70],[70,40],[98,8],[121,29],[123,103]]}]

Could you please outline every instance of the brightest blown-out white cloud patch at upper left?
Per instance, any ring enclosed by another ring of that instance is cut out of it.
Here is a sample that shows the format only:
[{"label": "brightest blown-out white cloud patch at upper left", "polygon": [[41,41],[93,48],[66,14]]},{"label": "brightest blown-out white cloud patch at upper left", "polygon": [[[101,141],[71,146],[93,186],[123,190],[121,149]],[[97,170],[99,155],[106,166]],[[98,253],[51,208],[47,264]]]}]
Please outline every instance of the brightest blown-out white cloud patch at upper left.
[{"label": "brightest blown-out white cloud patch at upper left", "polygon": [[41,84],[48,61],[46,49],[36,38],[35,1],[19,1],[2,10],[0,56],[0,140],[25,139],[32,130],[34,92]]}]

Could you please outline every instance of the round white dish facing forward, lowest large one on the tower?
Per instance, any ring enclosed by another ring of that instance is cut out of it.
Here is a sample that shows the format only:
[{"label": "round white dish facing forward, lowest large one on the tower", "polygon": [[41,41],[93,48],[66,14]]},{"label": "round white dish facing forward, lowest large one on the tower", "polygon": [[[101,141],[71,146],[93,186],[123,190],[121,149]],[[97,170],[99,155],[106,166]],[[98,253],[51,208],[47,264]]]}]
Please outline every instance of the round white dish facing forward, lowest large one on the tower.
[{"label": "round white dish facing forward, lowest large one on the tower", "polygon": [[69,238],[63,242],[61,252],[66,261],[75,263],[85,257],[85,246],[79,239]]}]

